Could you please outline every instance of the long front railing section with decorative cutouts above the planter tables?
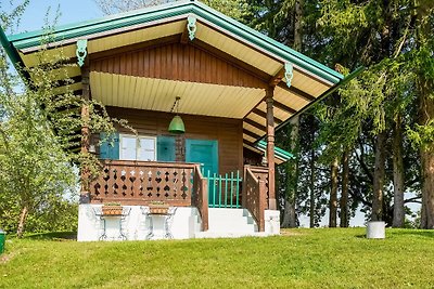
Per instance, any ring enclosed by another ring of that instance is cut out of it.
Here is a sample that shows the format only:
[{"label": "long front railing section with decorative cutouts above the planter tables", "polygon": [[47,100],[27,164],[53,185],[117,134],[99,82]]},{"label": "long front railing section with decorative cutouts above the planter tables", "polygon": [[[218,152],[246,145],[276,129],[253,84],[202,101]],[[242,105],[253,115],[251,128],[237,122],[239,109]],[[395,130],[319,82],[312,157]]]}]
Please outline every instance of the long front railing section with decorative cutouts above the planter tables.
[{"label": "long front railing section with decorative cutouts above the planter tables", "polygon": [[106,160],[101,175],[90,184],[91,202],[191,206],[196,165]]}]

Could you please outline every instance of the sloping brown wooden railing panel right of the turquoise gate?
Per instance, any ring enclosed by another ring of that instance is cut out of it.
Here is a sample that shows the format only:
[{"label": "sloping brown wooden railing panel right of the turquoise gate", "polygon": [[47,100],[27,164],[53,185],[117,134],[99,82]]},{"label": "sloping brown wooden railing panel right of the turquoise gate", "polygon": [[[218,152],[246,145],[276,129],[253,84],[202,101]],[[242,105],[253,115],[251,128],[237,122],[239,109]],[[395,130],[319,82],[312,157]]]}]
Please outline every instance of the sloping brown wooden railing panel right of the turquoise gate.
[{"label": "sloping brown wooden railing panel right of the turquoise gate", "polygon": [[255,219],[258,231],[265,231],[265,210],[267,209],[266,180],[258,179],[252,168],[244,167],[243,207],[248,209]]}]

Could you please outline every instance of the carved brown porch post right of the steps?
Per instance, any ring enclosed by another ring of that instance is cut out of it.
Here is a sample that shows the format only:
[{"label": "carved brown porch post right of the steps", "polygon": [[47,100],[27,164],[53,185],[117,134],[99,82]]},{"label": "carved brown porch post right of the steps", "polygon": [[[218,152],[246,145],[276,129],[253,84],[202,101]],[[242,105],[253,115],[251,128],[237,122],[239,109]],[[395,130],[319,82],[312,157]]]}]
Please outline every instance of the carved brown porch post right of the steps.
[{"label": "carved brown porch post right of the steps", "polygon": [[268,209],[276,210],[276,184],[275,184],[275,115],[272,103],[275,87],[268,87],[267,102],[267,163],[268,163]]}]

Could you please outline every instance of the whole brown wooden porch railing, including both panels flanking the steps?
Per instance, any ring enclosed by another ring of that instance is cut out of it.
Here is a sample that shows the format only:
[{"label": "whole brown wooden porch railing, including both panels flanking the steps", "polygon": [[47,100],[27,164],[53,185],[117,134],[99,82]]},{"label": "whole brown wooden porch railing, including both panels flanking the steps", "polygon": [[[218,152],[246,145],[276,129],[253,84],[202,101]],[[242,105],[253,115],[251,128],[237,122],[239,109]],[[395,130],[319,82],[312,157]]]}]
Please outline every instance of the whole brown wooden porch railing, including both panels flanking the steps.
[{"label": "whole brown wooden porch railing, including both panels flanking the steps", "polygon": [[[208,180],[199,165],[128,160],[104,160],[102,165],[101,175],[90,183],[92,203],[145,206],[161,201],[174,207],[194,206],[201,213],[203,231],[208,229]],[[268,169],[245,166],[242,180],[242,207],[264,232]]]}]

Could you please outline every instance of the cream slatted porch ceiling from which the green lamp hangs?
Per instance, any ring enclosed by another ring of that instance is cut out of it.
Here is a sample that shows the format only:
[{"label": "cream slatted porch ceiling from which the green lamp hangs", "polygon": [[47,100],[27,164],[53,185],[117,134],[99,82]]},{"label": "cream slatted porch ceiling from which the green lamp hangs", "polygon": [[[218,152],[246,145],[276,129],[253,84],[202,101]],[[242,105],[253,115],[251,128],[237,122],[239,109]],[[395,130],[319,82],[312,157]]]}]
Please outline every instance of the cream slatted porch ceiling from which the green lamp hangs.
[{"label": "cream slatted porch ceiling from which the green lamp hangs", "polygon": [[105,105],[170,111],[180,96],[179,113],[243,118],[264,97],[263,89],[90,73],[92,97]]}]

